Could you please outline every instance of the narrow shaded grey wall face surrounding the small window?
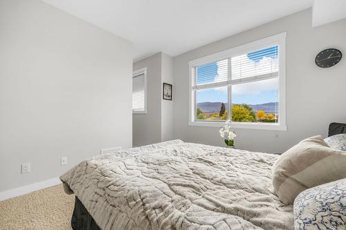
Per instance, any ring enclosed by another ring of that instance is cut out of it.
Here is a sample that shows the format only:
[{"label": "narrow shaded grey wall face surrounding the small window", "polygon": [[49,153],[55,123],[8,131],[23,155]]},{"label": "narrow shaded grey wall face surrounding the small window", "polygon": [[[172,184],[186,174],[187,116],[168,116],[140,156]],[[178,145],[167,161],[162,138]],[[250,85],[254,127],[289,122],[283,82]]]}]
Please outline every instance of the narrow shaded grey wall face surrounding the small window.
[{"label": "narrow shaded grey wall face surrounding the small window", "polygon": [[161,142],[161,52],[134,63],[134,70],[147,67],[147,113],[134,114],[134,146]]}]

